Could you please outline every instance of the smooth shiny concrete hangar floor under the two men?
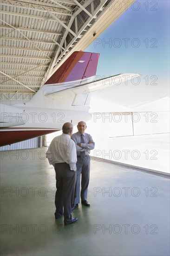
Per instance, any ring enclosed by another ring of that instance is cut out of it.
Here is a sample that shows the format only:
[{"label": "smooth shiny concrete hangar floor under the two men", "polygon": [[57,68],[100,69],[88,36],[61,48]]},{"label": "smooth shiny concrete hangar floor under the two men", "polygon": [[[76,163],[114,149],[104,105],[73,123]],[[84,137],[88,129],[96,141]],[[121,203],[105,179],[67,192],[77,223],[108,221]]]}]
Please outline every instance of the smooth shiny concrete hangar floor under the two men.
[{"label": "smooth shiny concrete hangar floor under the two men", "polygon": [[2,256],[169,256],[170,180],[91,161],[78,222],[54,219],[55,172],[46,148],[1,152]]}]

